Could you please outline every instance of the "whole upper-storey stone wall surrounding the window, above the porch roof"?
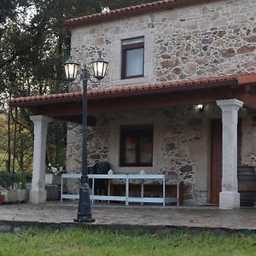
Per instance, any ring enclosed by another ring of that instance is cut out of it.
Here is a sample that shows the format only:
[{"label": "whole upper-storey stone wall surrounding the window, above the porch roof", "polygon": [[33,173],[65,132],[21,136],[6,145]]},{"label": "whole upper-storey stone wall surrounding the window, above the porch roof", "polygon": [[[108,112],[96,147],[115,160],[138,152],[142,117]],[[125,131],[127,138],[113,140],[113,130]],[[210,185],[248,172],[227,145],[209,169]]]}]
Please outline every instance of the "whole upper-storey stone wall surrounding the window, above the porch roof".
[{"label": "whole upper-storey stone wall surrounding the window, above the porch roof", "polygon": [[[196,79],[256,70],[256,2],[195,4],[72,30],[72,55],[89,63],[96,51],[108,77],[93,86]],[[120,79],[121,39],[145,37],[145,77]],[[92,86],[92,84],[90,84]]]}]

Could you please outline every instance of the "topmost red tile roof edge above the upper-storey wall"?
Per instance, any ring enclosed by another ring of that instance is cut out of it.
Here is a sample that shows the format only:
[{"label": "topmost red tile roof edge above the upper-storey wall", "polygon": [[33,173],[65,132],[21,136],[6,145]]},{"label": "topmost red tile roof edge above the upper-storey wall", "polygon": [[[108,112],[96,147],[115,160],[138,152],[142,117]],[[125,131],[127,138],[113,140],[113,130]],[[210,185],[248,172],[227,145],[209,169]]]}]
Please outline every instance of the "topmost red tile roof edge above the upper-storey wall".
[{"label": "topmost red tile roof edge above the upper-storey wall", "polygon": [[[212,0],[212,1],[219,1],[219,0]],[[96,23],[100,21],[108,21],[108,20],[115,20],[131,15],[138,15],[138,14],[145,14],[148,12],[154,12],[158,10],[166,10],[166,9],[174,9],[177,7],[182,7],[184,5],[195,4],[195,3],[202,3],[202,2],[209,2],[207,0],[161,0],[152,3],[144,3],[138,4],[135,6],[126,7],[123,9],[114,9],[110,10],[109,12],[97,13],[93,15],[87,15],[84,17],[74,18],[70,20],[66,20],[65,26],[67,29],[72,26],[81,26],[91,23]]]}]

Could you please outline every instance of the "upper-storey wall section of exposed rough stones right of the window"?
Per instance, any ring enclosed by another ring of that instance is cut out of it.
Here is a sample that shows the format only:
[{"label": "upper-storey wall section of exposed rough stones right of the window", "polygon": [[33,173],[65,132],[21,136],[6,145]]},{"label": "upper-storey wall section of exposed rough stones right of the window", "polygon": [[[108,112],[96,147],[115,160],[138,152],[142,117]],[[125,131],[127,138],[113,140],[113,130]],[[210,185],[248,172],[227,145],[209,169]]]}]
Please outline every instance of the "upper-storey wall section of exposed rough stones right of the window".
[{"label": "upper-storey wall section of exposed rough stones right of the window", "polygon": [[255,14],[255,1],[240,0],[218,1],[157,15],[154,22],[157,80],[255,70]]}]

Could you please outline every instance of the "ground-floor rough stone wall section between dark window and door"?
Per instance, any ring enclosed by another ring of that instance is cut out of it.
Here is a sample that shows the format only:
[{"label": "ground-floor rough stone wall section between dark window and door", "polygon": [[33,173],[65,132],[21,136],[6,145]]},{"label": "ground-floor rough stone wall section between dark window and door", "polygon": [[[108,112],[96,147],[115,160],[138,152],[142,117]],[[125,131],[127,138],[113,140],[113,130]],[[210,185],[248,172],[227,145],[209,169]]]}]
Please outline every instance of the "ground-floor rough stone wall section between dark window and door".
[{"label": "ground-floor rough stone wall section between dark window and door", "polygon": [[[165,110],[165,115],[161,172],[177,173],[183,183],[185,203],[206,203],[207,124],[201,113],[196,113],[193,108],[172,108]],[[196,144],[201,148],[195,148]],[[195,183],[196,178],[204,185]]]}]

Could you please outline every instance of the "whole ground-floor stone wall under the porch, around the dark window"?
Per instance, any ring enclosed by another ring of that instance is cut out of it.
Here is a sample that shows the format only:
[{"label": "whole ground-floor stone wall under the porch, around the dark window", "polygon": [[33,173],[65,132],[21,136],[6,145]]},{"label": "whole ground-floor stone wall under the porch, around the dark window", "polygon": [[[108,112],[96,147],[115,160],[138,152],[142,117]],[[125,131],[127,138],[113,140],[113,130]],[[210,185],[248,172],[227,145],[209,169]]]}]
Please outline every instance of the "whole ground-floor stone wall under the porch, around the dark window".
[{"label": "whole ground-floor stone wall under the porch, around the dark window", "polygon": [[[143,123],[154,124],[153,166],[120,167],[120,125]],[[67,172],[81,170],[80,131],[80,125],[68,125]],[[96,160],[108,160],[116,173],[138,173],[142,169],[146,173],[175,173],[183,182],[185,203],[207,202],[207,124],[203,114],[194,108],[163,108],[99,115],[96,117],[96,127],[90,128],[88,138],[90,165]],[[195,145],[201,145],[196,150],[197,155],[191,152]],[[195,182],[195,177],[201,184]],[[77,183],[69,183],[68,186],[69,192],[78,187]]]}]

